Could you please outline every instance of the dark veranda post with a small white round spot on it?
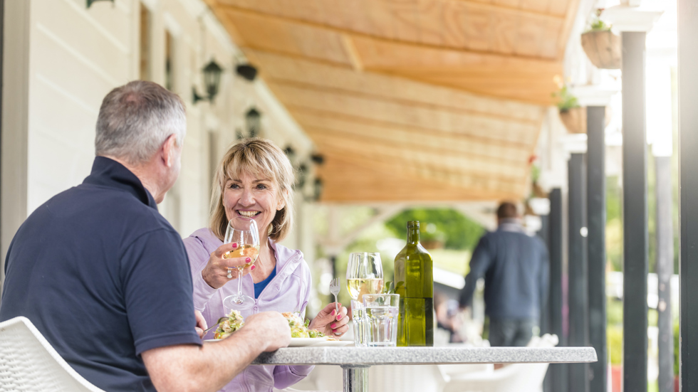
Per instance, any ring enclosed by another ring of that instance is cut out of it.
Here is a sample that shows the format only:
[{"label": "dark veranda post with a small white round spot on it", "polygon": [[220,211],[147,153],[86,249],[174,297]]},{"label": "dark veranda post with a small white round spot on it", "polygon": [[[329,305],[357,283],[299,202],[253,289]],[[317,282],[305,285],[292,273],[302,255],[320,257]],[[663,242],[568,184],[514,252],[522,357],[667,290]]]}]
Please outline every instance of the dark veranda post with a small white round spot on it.
[{"label": "dark veranda post with a small white round spot on it", "polygon": [[[570,346],[588,346],[588,268],[586,254],[586,176],[584,154],[569,161],[569,308]],[[589,365],[569,365],[570,392],[589,392]]]}]

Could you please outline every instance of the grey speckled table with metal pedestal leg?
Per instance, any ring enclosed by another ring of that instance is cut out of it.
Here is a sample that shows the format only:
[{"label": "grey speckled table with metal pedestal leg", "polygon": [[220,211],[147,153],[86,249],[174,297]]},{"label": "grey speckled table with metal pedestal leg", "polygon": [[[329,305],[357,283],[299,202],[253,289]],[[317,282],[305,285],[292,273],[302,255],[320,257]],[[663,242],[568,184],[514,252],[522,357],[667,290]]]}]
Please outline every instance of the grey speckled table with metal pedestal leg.
[{"label": "grey speckled table with metal pedestal leg", "polygon": [[253,365],[337,365],[344,392],[368,392],[368,368],[420,364],[595,362],[593,347],[294,347],[262,353]]}]

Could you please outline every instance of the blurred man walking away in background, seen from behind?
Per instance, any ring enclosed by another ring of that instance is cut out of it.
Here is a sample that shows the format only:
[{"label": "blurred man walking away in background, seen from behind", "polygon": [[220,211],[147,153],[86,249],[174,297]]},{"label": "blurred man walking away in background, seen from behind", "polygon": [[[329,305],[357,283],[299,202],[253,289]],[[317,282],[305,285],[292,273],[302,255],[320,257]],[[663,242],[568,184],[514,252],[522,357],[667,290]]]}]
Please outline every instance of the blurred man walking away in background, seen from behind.
[{"label": "blurred man walking away in background, seen from behind", "polygon": [[523,231],[514,203],[501,203],[497,223],[497,230],[483,235],[473,252],[460,306],[469,306],[477,280],[484,277],[490,345],[526,346],[537,334],[547,297],[548,250],[540,238]]}]

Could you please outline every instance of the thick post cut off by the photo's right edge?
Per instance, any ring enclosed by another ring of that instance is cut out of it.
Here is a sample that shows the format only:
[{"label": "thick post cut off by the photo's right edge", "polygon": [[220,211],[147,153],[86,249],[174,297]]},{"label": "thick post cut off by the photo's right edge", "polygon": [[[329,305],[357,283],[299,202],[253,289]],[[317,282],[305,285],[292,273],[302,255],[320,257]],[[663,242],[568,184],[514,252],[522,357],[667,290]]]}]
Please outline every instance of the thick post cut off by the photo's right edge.
[{"label": "thick post cut off by the photo's right edge", "polygon": [[698,391],[698,4],[678,0],[679,231],[681,280],[679,349],[682,391]]}]

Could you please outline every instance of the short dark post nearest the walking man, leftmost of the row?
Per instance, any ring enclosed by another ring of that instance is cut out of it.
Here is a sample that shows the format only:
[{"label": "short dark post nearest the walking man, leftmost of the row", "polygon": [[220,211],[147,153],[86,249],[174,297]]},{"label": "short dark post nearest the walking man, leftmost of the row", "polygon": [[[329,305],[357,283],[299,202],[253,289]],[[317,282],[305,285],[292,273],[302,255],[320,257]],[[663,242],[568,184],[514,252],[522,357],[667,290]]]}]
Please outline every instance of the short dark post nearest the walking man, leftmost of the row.
[{"label": "short dark post nearest the walking man, leftmost of the row", "polygon": [[[550,215],[548,215],[548,251],[550,253],[550,289],[548,294],[548,333],[556,334],[558,346],[566,346],[567,339],[563,333],[563,212],[562,191],[553,189],[550,198]],[[567,365],[550,364],[546,374],[548,391],[557,392],[567,389]]]}]

